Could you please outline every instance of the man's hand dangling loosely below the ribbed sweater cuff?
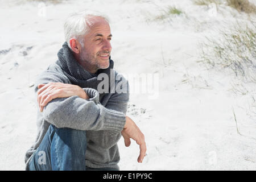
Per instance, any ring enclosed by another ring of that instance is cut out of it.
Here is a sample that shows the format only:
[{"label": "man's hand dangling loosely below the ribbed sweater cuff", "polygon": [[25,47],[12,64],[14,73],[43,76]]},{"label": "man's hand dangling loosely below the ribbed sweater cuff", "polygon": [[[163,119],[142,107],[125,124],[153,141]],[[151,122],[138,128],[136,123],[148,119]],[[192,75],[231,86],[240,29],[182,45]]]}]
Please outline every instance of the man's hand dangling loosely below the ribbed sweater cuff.
[{"label": "man's hand dangling loosely below the ribbed sweater cuff", "polygon": [[129,147],[131,144],[131,139],[134,139],[136,143],[139,145],[139,149],[141,150],[138,157],[138,163],[142,163],[144,156],[146,156],[146,143],[144,139],[144,135],[139,130],[139,127],[134,123],[131,118],[126,116],[125,127],[122,130],[123,138],[125,139],[125,146]]}]

